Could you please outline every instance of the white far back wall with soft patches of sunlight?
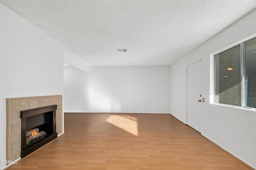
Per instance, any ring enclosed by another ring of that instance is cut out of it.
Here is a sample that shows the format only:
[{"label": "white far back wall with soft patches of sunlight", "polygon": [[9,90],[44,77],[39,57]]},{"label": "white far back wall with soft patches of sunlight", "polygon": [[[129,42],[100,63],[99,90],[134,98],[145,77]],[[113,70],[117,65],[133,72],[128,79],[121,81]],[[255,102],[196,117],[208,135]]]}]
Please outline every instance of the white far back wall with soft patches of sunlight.
[{"label": "white far back wall with soft patches of sunlight", "polygon": [[64,67],[64,112],[170,113],[169,66]]}]

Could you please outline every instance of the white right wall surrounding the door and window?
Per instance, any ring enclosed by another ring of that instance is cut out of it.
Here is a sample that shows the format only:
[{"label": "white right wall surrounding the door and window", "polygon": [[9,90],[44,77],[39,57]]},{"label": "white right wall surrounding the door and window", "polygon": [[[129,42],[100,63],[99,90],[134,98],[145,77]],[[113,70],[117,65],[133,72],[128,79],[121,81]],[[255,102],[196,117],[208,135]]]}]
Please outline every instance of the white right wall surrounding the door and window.
[{"label": "white right wall surrounding the door and window", "polygon": [[[256,111],[210,104],[210,54],[256,33],[256,10],[170,67],[170,111],[186,123],[186,66],[202,59],[202,135],[256,168]],[[176,109],[176,111],[175,111]]]}]

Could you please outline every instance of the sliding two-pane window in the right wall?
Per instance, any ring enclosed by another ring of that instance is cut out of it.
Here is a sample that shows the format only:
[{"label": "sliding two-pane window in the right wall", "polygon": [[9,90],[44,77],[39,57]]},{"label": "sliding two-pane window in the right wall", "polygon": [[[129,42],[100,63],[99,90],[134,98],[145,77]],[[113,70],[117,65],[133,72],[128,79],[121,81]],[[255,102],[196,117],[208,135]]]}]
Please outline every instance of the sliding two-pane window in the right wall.
[{"label": "sliding two-pane window in the right wall", "polygon": [[256,108],[256,37],[215,55],[215,103]]}]

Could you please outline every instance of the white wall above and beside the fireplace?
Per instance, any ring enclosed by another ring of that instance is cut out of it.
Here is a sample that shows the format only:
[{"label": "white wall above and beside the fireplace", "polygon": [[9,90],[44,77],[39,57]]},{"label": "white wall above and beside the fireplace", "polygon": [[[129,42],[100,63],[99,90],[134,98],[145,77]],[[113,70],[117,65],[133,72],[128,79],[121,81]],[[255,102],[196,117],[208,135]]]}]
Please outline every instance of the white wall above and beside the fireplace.
[{"label": "white wall above and beside the fireplace", "polygon": [[2,4],[0,37],[0,160],[5,160],[6,98],[63,95],[63,46]]}]

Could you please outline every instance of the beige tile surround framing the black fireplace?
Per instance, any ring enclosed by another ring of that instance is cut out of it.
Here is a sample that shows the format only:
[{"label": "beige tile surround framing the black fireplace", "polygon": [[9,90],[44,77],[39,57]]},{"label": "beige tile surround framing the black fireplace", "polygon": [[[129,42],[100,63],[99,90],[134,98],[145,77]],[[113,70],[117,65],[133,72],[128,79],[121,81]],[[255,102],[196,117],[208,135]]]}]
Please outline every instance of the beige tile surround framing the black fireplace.
[{"label": "beige tile surround framing the black fireplace", "polygon": [[20,111],[38,107],[57,105],[56,132],[62,129],[62,95],[37,96],[6,99],[6,160],[20,158],[21,150],[21,119]]}]

